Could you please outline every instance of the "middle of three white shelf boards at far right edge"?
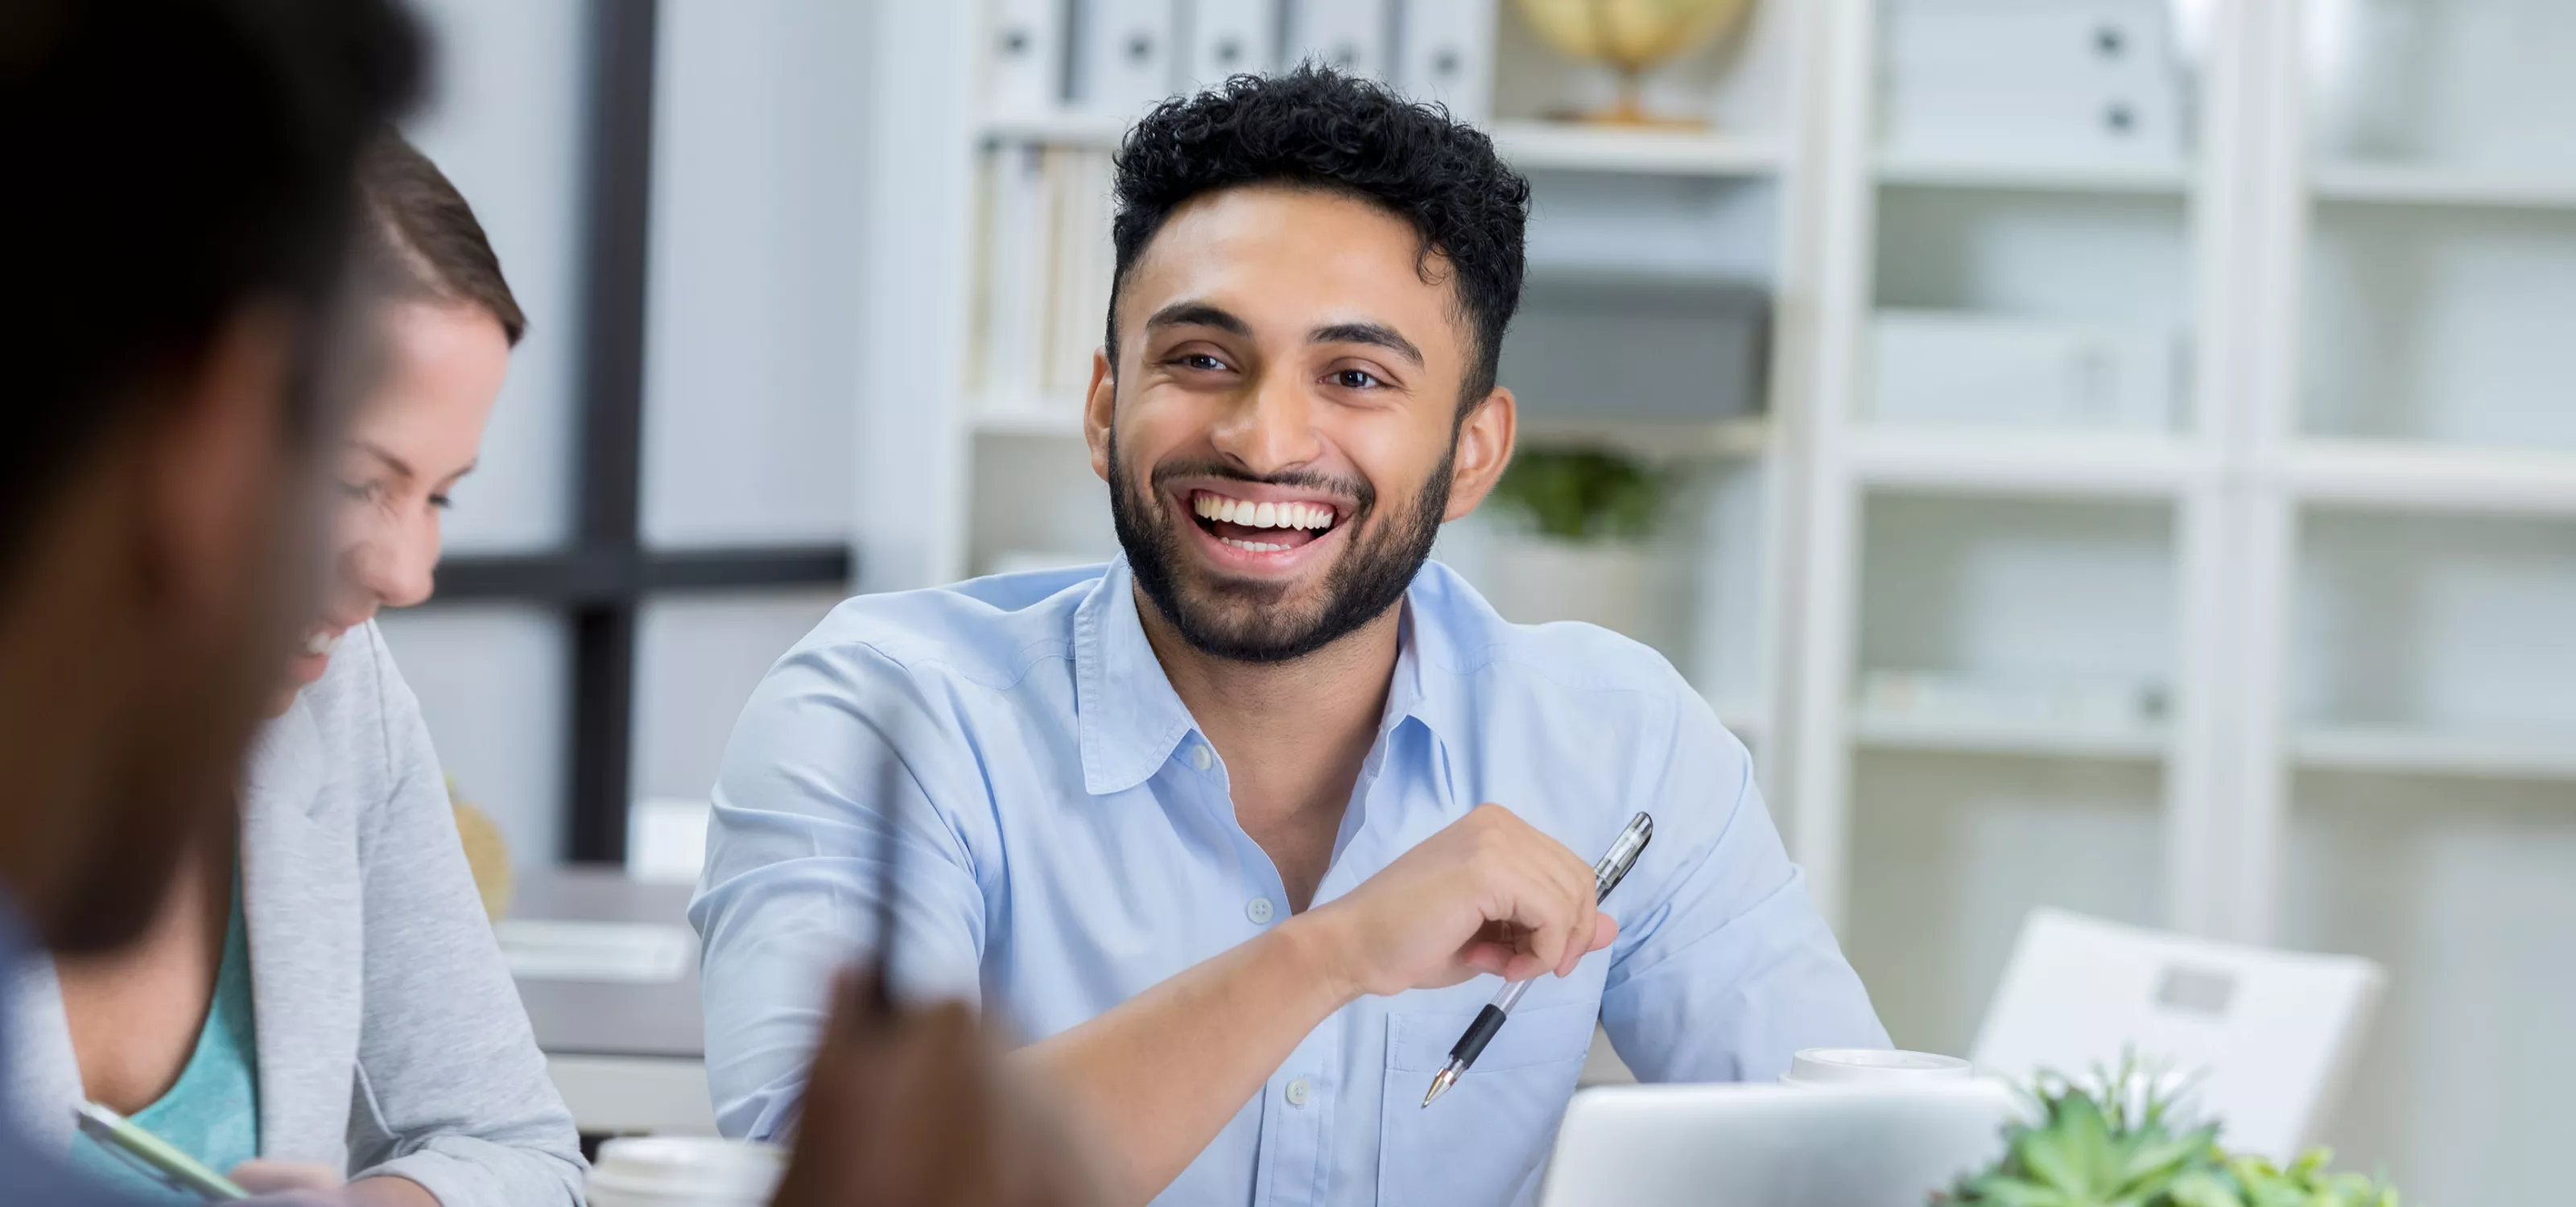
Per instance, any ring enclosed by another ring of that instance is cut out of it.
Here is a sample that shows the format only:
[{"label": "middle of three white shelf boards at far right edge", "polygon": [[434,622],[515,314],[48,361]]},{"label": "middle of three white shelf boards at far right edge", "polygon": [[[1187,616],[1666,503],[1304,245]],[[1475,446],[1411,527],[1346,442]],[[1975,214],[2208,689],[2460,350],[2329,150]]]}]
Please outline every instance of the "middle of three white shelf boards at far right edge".
[{"label": "middle of three white shelf boards at far right edge", "polygon": [[2370,510],[2576,515],[2576,450],[2442,448],[2409,440],[2300,440],[2300,499]]}]

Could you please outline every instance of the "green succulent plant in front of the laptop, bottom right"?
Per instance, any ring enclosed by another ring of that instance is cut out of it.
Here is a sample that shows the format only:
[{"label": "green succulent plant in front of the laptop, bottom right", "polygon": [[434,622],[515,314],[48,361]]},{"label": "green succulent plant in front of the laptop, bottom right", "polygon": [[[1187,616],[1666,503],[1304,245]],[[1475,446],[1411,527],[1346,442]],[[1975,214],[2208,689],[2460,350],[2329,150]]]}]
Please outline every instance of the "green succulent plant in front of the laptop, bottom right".
[{"label": "green succulent plant in front of the laptop, bottom right", "polygon": [[2043,1073],[2035,1119],[2004,1130],[2004,1158],[1935,1194],[1978,1207],[2398,1207],[2398,1192],[2360,1174],[2329,1174],[2331,1153],[2290,1168],[2228,1156],[2218,1125],[2179,1130],[2172,1096],[2136,1060],[2089,1083]]}]

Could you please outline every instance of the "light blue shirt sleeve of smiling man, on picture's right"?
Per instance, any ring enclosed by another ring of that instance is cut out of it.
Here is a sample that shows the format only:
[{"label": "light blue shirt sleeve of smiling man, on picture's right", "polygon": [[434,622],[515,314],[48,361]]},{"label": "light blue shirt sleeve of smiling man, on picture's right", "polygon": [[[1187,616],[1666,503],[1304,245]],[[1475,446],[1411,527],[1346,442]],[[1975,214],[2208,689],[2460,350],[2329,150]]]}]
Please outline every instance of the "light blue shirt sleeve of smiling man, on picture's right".
[{"label": "light blue shirt sleeve of smiling man, on picture's right", "polygon": [[1770,1081],[1801,1047],[1886,1047],[1870,993],[1806,896],[1752,759],[1687,687],[1674,692],[1654,844],[1602,986],[1610,1045],[1643,1081]]}]

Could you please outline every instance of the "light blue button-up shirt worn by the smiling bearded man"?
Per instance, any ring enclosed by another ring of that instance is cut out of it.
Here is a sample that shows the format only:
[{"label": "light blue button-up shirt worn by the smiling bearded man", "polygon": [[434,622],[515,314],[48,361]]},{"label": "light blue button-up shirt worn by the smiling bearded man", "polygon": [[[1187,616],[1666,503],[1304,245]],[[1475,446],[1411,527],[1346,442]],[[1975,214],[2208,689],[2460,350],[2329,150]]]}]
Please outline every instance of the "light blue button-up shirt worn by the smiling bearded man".
[{"label": "light blue button-up shirt worn by the smiling bearded man", "polygon": [[[1744,746],[1662,656],[1504,623],[1440,564],[1404,607],[1316,901],[1486,800],[1587,862],[1646,808],[1654,844],[1605,903],[1618,942],[1530,986],[1432,1109],[1422,1091],[1497,981],[1345,1006],[1157,1202],[1528,1202],[1595,1019],[1646,1081],[1775,1078],[1798,1047],[1886,1045]],[[889,813],[896,978],[1030,1040],[1288,916],[1126,564],[840,605],[752,695],[714,808],[690,919],[726,1135],[793,1127],[827,975],[873,944]]]}]

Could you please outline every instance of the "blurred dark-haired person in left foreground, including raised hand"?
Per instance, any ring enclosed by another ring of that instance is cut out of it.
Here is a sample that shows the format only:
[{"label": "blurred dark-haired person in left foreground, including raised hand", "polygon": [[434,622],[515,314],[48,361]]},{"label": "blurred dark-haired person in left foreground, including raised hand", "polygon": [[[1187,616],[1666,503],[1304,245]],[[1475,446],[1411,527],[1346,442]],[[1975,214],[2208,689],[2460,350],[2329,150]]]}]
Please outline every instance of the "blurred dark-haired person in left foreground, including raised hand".
[{"label": "blurred dark-haired person in left foreground, including raised hand", "polygon": [[[0,324],[13,373],[0,443],[10,981],[41,970],[28,944],[100,960],[147,939],[175,885],[206,888],[183,875],[188,860],[242,824],[245,751],[314,615],[304,584],[314,463],[340,430],[330,399],[366,381],[366,358],[343,355],[343,335],[368,327],[340,322],[350,180],[410,98],[417,54],[410,21],[379,0],[0,8],[13,167],[0,224],[21,299]],[[198,952],[193,975],[214,978]],[[330,970],[281,968],[255,988],[281,1001],[337,986]],[[204,1009],[211,986],[193,999]],[[963,1009],[896,1017],[855,988],[845,1006],[778,1202],[1041,1202],[1054,1148],[1015,1114]],[[26,1091],[18,1050],[0,1035],[13,1094]],[[0,1122],[10,1202],[142,1202],[64,1168],[15,1122]],[[992,1161],[961,1168],[974,1156]],[[430,1202],[392,1176],[296,1194]]]}]

